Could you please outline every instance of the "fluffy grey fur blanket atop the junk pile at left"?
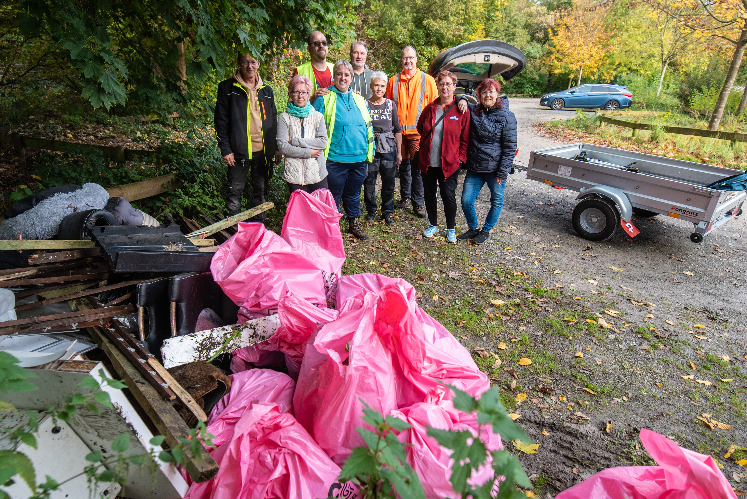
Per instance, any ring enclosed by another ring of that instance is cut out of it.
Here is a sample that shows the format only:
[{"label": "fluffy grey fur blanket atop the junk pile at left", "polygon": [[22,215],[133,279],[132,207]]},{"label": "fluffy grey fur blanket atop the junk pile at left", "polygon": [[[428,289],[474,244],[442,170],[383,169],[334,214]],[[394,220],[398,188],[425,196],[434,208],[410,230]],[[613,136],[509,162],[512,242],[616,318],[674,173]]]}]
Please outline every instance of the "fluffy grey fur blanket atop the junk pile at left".
[{"label": "fluffy grey fur blanket atop the junk pile at left", "polygon": [[39,202],[34,208],[1,223],[0,239],[17,240],[19,232],[24,241],[52,239],[57,235],[64,217],[75,211],[102,209],[108,199],[106,189],[92,182],[71,193],[57,193]]}]

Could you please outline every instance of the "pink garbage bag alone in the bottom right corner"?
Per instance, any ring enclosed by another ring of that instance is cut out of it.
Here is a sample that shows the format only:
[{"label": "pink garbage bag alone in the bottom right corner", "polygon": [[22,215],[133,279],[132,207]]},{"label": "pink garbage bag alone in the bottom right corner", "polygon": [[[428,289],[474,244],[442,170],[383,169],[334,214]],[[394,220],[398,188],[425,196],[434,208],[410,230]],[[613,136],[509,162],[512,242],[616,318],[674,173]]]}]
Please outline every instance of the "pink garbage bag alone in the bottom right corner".
[{"label": "pink garbage bag alone in the bottom right corner", "polygon": [[608,468],[556,499],[737,499],[711,456],[680,447],[645,428],[640,438],[658,466]]}]

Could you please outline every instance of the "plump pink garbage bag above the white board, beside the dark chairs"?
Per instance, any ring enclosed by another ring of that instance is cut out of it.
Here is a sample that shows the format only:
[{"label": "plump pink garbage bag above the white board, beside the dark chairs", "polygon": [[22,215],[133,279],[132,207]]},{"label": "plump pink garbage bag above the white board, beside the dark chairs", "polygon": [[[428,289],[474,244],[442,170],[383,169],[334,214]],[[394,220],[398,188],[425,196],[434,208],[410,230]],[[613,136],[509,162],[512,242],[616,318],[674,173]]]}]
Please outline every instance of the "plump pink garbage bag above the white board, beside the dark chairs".
[{"label": "plump pink garbage bag above the white board, beside the dark chairs", "polygon": [[312,259],[261,223],[239,223],[210,264],[213,279],[250,318],[275,314],[289,292],[326,308],[324,275]]}]

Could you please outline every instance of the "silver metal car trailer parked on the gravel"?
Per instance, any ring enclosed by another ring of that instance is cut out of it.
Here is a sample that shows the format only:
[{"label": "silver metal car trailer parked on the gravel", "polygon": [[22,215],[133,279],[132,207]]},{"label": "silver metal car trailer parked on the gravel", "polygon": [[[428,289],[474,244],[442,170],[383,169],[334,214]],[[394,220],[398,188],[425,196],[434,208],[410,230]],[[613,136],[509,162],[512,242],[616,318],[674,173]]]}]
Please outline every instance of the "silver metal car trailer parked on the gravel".
[{"label": "silver metal car trailer parked on the gravel", "polygon": [[699,243],[722,223],[742,214],[744,190],[716,190],[710,185],[744,173],[724,167],[662,158],[588,143],[539,149],[529,164],[514,163],[527,179],[564,187],[582,199],[573,211],[576,232],[589,241],[611,238],[620,225],[630,237],[630,220],[658,214],[689,220],[690,241]]}]

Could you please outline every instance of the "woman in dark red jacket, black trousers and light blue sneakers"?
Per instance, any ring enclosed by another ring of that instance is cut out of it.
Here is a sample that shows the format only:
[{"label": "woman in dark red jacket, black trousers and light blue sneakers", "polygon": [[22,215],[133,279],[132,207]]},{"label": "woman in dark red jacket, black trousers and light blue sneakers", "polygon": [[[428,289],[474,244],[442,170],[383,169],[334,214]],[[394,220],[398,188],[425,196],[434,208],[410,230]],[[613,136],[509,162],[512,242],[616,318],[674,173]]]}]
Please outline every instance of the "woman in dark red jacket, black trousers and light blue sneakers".
[{"label": "woman in dark red jacket, black trousers and light blue sneakers", "polygon": [[[441,71],[436,76],[438,99],[427,105],[418,120],[421,148],[418,168],[423,172],[425,209],[430,226],[423,235],[433,238],[438,233],[438,200],[436,189],[441,190],[446,217],[446,240],[456,243],[456,185],[459,167],[467,161],[469,143],[469,114],[456,108],[454,90],[456,76]],[[445,115],[444,115],[445,113]]]}]

